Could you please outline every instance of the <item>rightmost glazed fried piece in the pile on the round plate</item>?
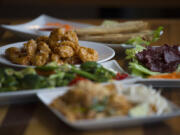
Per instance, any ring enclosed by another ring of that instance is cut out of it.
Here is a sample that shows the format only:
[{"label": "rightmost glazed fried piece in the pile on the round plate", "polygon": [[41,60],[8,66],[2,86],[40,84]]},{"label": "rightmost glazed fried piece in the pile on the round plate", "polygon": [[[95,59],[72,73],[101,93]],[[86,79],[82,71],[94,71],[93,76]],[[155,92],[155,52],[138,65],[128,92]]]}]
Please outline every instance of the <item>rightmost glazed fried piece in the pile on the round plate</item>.
[{"label": "rightmost glazed fried piece in the pile on the round plate", "polygon": [[80,47],[79,57],[83,62],[97,61],[98,60],[98,53],[96,50],[94,50],[92,48]]}]

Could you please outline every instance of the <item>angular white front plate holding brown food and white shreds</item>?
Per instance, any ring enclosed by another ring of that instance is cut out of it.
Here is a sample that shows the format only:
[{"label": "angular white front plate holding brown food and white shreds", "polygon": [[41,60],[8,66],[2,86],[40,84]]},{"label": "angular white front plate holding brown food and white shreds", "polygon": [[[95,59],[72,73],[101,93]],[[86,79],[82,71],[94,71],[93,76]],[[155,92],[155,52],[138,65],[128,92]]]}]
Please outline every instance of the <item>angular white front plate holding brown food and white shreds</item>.
[{"label": "angular white front plate holding brown food and white shreds", "polygon": [[[132,85],[132,84],[131,84]],[[149,117],[109,117],[99,120],[81,120],[74,123],[69,122],[60,112],[56,109],[50,107],[50,103],[56,99],[58,96],[63,95],[68,88],[63,88],[61,91],[49,91],[49,92],[40,92],[37,94],[38,98],[43,102],[60,120],[65,122],[67,125],[76,128],[76,129],[83,129],[83,130],[92,130],[92,129],[105,129],[105,128],[114,128],[114,127],[126,127],[132,125],[140,125],[144,123],[156,122],[165,120],[171,117],[175,117],[180,115],[179,107],[175,106],[171,102],[169,106],[172,110],[170,113],[166,113],[163,115],[153,115]]]}]

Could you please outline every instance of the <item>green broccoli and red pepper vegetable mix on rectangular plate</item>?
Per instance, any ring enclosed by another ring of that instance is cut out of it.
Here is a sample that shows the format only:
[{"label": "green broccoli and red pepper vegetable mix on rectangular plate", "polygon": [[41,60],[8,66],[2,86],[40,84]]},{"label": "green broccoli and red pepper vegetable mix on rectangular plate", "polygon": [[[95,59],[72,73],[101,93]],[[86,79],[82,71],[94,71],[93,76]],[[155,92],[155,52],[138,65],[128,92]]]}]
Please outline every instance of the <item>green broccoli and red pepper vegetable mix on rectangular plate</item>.
[{"label": "green broccoli and red pepper vegetable mix on rectangular plate", "polygon": [[59,66],[53,62],[18,71],[12,68],[0,68],[0,92],[74,85],[80,80],[108,82],[127,77],[125,73],[117,73],[96,62],[85,62],[80,67],[70,64]]}]

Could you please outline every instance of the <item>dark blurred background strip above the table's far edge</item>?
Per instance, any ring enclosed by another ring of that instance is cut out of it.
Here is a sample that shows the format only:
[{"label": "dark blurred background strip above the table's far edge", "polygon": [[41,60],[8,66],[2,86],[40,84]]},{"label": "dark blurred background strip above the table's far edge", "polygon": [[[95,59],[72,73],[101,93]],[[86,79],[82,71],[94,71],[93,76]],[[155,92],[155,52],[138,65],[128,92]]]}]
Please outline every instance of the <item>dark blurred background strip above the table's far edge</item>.
[{"label": "dark blurred background strip above the table's far edge", "polygon": [[180,18],[180,0],[0,0],[1,18]]}]

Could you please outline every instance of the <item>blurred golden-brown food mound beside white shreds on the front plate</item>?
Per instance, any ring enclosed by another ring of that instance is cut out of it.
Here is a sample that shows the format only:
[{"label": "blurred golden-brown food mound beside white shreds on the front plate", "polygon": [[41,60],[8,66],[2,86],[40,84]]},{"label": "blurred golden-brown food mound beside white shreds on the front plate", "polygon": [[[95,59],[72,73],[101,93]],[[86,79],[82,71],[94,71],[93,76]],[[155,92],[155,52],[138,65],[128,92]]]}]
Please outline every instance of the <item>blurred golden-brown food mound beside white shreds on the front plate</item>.
[{"label": "blurred golden-brown food mound beside white shreds on the front plate", "polygon": [[[117,89],[90,81],[80,81],[50,104],[69,121],[99,119],[110,116],[126,116],[132,104]],[[98,107],[101,109],[98,109]]]}]

